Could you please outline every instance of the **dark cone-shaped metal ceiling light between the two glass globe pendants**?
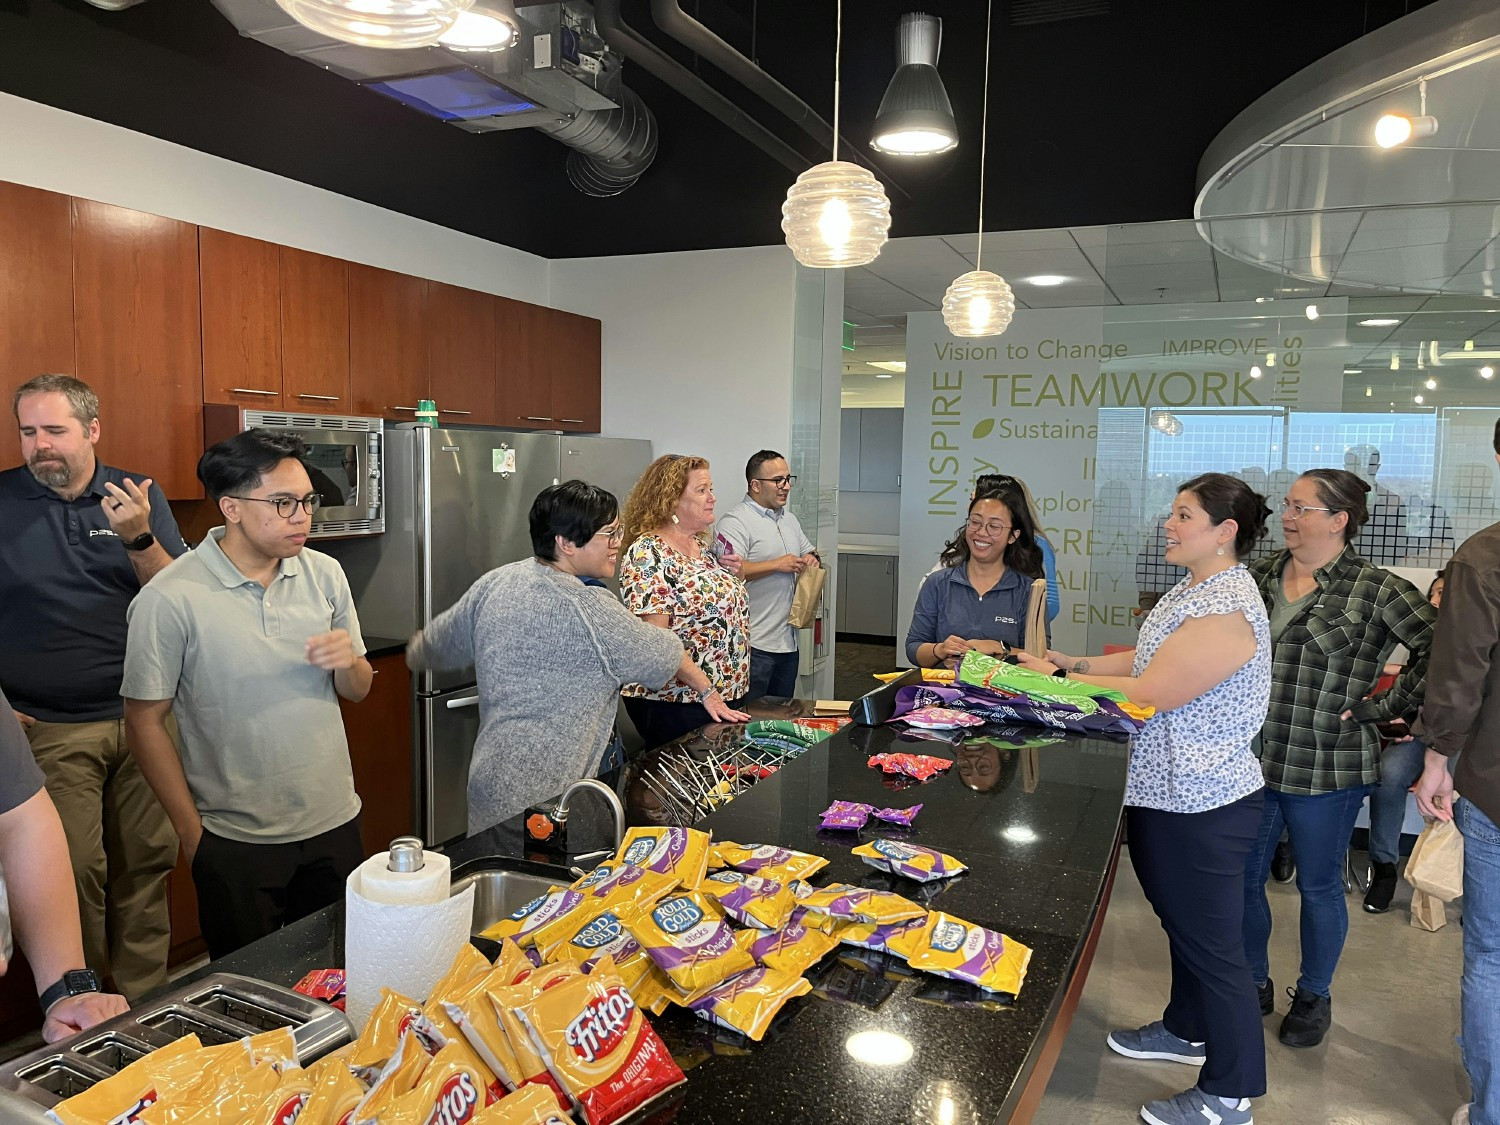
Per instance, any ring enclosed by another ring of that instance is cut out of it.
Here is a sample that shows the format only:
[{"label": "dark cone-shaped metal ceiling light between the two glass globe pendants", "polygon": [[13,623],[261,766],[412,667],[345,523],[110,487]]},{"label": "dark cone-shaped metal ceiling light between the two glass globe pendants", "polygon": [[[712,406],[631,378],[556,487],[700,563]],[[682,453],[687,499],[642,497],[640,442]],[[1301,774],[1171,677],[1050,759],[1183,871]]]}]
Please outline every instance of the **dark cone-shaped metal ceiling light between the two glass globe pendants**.
[{"label": "dark cone-shaped metal ceiling light between the two glass globe pendants", "polygon": [[874,114],[870,147],[891,156],[933,156],[958,144],[952,104],[938,74],[942,20],[908,12],[896,22],[896,74]]}]

